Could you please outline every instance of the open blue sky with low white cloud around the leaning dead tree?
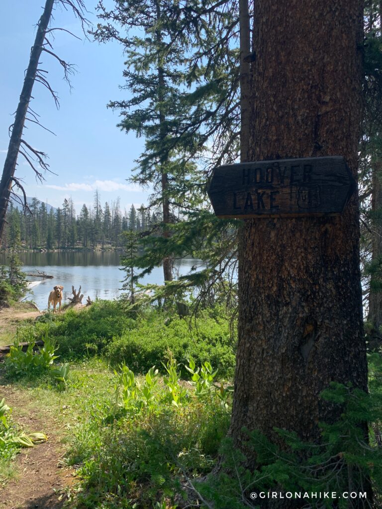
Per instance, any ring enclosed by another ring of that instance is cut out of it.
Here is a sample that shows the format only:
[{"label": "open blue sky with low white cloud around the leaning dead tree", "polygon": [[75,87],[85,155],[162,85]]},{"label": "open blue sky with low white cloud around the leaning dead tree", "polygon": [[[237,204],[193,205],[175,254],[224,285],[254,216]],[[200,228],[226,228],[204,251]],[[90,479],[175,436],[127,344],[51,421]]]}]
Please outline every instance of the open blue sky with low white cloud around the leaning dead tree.
[{"label": "open blue sky with low white cloud around the leaning dead tree", "polygon": [[[8,148],[8,127],[13,122],[22,88],[24,70],[28,66],[30,48],[35,38],[35,25],[41,16],[44,0],[2,0],[0,6],[0,164],[3,170]],[[97,0],[86,0],[88,18],[97,22]],[[106,0],[112,7],[113,1]],[[41,115],[42,124],[57,136],[27,123],[24,138],[34,148],[49,156],[48,163],[56,175],[45,174],[45,181],[36,182],[32,169],[22,157],[16,176],[24,182],[29,196],[37,196],[54,207],[72,197],[79,213],[83,203],[92,205],[98,188],[102,204],[120,197],[121,206],[147,203],[148,192],[129,184],[126,179],[143,150],[144,139],[121,132],[116,124],[119,112],[106,108],[110,100],[127,97],[119,89],[124,83],[122,47],[116,43],[98,44],[84,40],[80,24],[72,13],[56,8],[52,26],[64,27],[83,40],[56,32],[54,50],[64,60],[76,65],[70,93],[63,80],[62,68],[50,55],[42,55],[42,69],[60,97],[57,110],[48,91],[35,83],[31,107]]]}]

